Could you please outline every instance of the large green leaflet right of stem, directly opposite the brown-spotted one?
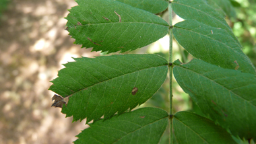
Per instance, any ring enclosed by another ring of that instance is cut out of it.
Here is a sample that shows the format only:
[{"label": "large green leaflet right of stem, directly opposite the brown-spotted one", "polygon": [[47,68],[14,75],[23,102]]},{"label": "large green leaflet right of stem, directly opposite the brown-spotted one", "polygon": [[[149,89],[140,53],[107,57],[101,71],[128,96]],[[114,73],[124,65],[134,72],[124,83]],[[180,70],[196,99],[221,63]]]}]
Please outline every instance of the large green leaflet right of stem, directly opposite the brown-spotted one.
[{"label": "large green leaflet right of stem, directly opposite the brown-spotted one", "polygon": [[256,139],[256,77],[223,69],[193,59],[180,65],[174,62],[174,77],[183,90],[209,115],[232,135]]}]

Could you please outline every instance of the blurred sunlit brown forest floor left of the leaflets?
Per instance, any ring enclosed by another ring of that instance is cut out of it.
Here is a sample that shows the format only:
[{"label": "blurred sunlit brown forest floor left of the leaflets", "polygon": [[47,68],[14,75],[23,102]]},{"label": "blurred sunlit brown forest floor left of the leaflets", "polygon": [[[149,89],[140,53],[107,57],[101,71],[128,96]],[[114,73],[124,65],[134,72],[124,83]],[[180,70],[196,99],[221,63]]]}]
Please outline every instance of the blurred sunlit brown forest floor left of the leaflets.
[{"label": "blurred sunlit brown forest floor left of the leaflets", "polygon": [[[3,1],[3,0],[1,0]],[[0,143],[72,143],[85,122],[51,107],[49,86],[71,57],[99,55],[65,31],[71,0],[13,0],[0,20]]]}]

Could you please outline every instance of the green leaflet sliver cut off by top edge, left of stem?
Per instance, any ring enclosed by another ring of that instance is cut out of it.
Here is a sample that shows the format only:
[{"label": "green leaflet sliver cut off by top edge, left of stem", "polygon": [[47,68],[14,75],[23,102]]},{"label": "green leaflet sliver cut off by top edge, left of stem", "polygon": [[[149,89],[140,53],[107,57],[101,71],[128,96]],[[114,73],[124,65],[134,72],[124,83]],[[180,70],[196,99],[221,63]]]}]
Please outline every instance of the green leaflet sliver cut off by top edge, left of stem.
[{"label": "green leaflet sliver cut off by top edge, left of stem", "polygon": [[117,0],[132,7],[143,9],[151,13],[160,13],[168,7],[166,0]]}]

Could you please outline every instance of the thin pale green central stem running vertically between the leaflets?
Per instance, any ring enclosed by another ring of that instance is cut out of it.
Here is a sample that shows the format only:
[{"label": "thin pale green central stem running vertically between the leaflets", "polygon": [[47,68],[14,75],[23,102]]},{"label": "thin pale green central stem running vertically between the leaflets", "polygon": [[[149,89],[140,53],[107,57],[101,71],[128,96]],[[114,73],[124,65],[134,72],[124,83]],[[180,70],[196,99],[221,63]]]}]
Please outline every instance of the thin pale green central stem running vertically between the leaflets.
[{"label": "thin pale green central stem running vertically between the leaflets", "polygon": [[[169,35],[170,35],[170,47],[169,47],[169,63],[172,63],[172,3],[171,1],[168,4],[168,13],[169,13]],[[169,114],[172,115],[172,66],[169,67],[169,77],[170,77],[170,112]],[[170,118],[170,144],[172,144],[172,118]]]}]

